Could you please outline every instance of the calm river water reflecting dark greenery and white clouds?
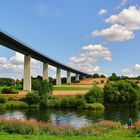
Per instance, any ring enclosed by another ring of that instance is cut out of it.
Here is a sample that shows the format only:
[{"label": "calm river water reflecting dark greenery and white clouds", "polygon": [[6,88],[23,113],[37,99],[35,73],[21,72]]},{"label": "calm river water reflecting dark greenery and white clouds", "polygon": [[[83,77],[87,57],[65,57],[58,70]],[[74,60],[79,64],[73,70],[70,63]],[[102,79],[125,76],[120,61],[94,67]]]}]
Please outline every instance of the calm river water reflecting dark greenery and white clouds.
[{"label": "calm river water reflecting dark greenery and white clouds", "polygon": [[0,111],[0,117],[16,119],[33,119],[45,121],[56,125],[70,124],[82,127],[86,124],[94,124],[103,120],[120,121],[126,124],[129,117],[133,122],[140,119],[140,109],[128,107],[107,108],[105,111],[91,110],[7,110]]}]

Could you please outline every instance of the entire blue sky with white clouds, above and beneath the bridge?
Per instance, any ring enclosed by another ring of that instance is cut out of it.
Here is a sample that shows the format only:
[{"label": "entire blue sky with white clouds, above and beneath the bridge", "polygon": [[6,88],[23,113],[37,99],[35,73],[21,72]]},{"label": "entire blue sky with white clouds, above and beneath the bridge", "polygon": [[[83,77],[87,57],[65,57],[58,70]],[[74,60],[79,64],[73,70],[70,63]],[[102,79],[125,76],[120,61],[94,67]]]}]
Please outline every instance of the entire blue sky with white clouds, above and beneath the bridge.
[{"label": "entire blue sky with white clouds, above and beneath the bridge", "polygon": [[[1,0],[0,28],[87,73],[140,75],[139,0]],[[22,77],[22,55],[0,46],[0,60],[1,76]],[[33,61],[32,74],[41,73]]]}]

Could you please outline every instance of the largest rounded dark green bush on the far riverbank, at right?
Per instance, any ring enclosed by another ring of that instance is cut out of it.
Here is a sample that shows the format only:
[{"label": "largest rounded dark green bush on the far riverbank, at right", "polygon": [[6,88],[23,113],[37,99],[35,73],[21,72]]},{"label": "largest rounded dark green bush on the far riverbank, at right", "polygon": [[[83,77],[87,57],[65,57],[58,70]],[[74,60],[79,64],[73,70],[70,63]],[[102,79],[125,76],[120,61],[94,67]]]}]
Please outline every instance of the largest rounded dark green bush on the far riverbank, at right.
[{"label": "largest rounded dark green bush on the far riverbank, at right", "polygon": [[131,83],[120,80],[109,82],[104,87],[104,102],[107,104],[129,104],[136,103],[137,93]]}]

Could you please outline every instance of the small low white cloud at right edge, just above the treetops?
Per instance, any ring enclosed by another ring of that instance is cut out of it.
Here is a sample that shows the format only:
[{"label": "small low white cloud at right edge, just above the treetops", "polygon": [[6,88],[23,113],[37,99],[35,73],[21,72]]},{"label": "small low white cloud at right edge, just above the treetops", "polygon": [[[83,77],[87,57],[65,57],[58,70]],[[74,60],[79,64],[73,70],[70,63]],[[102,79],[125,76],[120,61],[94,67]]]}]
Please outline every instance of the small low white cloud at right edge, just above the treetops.
[{"label": "small low white cloud at right edge, just above the treetops", "polygon": [[126,76],[136,77],[140,75],[140,64],[135,64],[130,68],[121,69],[121,72]]}]

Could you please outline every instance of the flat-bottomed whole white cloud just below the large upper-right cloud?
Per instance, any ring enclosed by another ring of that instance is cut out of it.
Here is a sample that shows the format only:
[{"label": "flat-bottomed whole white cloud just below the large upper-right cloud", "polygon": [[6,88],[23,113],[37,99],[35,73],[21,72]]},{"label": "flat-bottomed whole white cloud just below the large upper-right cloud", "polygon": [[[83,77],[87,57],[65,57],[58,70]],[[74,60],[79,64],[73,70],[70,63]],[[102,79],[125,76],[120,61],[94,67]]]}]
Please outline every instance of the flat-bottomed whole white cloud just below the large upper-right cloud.
[{"label": "flat-bottomed whole white cloud just below the large upper-right cloud", "polygon": [[119,24],[112,25],[103,30],[95,30],[91,35],[93,37],[103,37],[108,41],[125,41],[135,37],[133,31],[130,31]]}]

